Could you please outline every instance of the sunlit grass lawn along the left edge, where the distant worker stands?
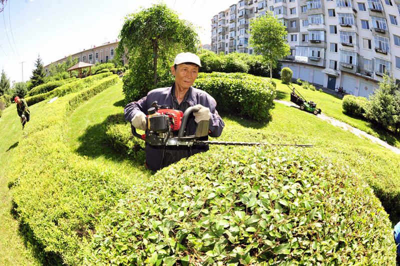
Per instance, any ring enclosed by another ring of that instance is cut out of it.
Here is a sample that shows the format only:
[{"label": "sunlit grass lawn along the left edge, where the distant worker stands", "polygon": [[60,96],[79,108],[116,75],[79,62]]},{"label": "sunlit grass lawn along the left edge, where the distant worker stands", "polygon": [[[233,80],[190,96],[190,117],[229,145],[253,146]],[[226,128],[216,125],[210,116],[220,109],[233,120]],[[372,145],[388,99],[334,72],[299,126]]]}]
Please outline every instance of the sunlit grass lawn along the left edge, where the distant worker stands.
[{"label": "sunlit grass lawn along the left edge, where the distant worker stands", "polygon": [[[30,107],[31,122],[34,121],[35,111],[40,104]],[[29,130],[27,123],[25,130]],[[11,193],[9,192],[5,176],[6,169],[23,167],[23,165],[10,165],[10,158],[18,146],[18,139],[23,131],[15,104],[4,110],[0,117],[0,265],[37,265],[29,248],[24,245],[24,240],[19,234],[18,221],[11,213]]]}]

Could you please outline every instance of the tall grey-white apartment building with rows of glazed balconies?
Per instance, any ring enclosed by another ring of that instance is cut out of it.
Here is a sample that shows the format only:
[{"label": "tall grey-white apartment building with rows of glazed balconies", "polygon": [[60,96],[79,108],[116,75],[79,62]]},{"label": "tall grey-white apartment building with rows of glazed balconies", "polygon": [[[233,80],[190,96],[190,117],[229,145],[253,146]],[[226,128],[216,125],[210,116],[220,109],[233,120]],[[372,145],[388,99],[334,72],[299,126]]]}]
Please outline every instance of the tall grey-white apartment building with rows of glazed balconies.
[{"label": "tall grey-white apartment building with rows of glazed balconies", "polygon": [[400,79],[400,0],[241,0],[211,19],[211,50],[251,54],[248,23],[265,10],[287,28],[293,78],[365,97],[383,73]]}]

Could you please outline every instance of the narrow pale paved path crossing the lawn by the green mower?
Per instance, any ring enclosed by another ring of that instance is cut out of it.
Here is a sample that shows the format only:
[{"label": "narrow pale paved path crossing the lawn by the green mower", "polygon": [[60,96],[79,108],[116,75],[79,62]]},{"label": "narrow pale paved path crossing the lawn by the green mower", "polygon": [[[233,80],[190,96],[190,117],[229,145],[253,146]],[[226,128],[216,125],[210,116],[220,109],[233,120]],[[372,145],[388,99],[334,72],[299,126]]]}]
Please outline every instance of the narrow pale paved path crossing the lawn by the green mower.
[{"label": "narrow pale paved path crossing the lawn by the green mower", "polygon": [[[277,100],[277,99],[275,99],[274,101],[282,103],[282,104],[284,104],[286,106],[293,106],[293,107],[298,108],[298,106],[296,104],[294,104],[294,103],[292,103],[290,101]],[[310,113],[310,115],[314,115],[314,114]],[[318,118],[322,119],[322,120],[325,120],[325,121],[333,124],[334,126],[338,126],[338,127],[342,128],[343,130],[348,130],[351,133],[355,134],[356,136],[366,137],[366,138],[370,139],[372,142],[377,143],[377,144],[379,144],[379,145],[381,145],[381,146],[383,146],[385,148],[388,148],[391,151],[393,151],[394,153],[400,154],[400,149],[399,148],[396,148],[396,147],[394,147],[392,145],[387,144],[387,142],[379,139],[376,136],[370,135],[370,134],[368,134],[368,133],[366,133],[366,132],[364,132],[364,131],[362,131],[362,130],[360,130],[358,128],[355,128],[355,127],[353,127],[353,126],[351,126],[351,125],[349,125],[349,124],[347,124],[345,122],[336,120],[335,118],[327,116],[327,115],[325,115],[323,113],[317,114],[316,116]]]}]

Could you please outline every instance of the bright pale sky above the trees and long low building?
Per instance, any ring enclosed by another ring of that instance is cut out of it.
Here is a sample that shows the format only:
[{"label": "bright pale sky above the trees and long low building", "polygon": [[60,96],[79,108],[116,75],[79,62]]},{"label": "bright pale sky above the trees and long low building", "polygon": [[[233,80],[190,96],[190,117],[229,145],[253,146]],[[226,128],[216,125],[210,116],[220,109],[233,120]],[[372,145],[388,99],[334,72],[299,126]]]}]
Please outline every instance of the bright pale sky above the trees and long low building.
[{"label": "bright pale sky above the trees and long low building", "polygon": [[38,54],[46,65],[113,41],[126,14],[159,2],[198,26],[204,44],[211,42],[212,16],[237,0],[7,0],[0,12],[0,69],[11,82],[22,81],[20,62],[25,61],[26,81]]}]

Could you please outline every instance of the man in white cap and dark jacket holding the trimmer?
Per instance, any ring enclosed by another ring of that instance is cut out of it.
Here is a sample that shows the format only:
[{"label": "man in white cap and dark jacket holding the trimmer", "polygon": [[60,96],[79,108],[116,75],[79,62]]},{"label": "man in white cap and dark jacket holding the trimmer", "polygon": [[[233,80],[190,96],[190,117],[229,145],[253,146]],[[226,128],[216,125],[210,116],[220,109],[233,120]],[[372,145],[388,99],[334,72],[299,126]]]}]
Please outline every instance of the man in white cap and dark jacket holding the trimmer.
[{"label": "man in white cap and dark jacket holding the trimmer", "polygon": [[[125,120],[131,122],[135,128],[145,130],[147,109],[154,101],[157,101],[159,105],[167,105],[182,112],[190,106],[197,106],[200,109],[190,115],[185,134],[193,135],[198,121],[209,120],[208,135],[220,136],[224,123],[215,109],[215,99],[207,92],[192,87],[200,66],[200,58],[197,55],[191,52],[177,54],[171,66],[172,75],[175,76],[172,86],[153,89],[147,93],[147,96],[127,104],[124,109]],[[200,140],[206,139],[208,136],[200,138]],[[208,145],[155,146],[146,143],[145,165],[148,169],[156,171],[181,158],[206,150],[208,150]]]}]

